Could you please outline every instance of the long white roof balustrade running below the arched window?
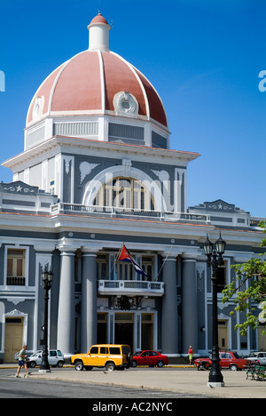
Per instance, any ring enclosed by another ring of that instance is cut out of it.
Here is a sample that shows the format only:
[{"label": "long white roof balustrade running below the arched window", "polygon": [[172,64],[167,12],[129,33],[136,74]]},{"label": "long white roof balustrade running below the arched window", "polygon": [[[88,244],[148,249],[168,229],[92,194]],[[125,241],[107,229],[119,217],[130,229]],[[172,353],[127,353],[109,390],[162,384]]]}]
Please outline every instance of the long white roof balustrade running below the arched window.
[{"label": "long white roof balustrade running below the arched window", "polygon": [[209,223],[210,216],[206,214],[197,214],[189,212],[167,212],[167,211],[148,211],[137,210],[131,208],[117,208],[115,206],[100,206],[100,205],[82,205],[58,203],[51,205],[51,215],[58,215],[59,213],[73,213],[79,215],[101,215],[104,217],[129,217],[140,218],[158,221],[181,221],[181,222],[201,222]]}]

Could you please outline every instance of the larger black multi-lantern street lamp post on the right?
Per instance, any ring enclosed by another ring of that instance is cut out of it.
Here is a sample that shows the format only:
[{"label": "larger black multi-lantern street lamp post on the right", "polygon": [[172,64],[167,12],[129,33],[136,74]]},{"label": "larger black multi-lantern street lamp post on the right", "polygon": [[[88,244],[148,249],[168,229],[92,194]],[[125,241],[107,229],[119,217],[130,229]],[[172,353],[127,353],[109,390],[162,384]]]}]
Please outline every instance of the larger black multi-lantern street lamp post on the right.
[{"label": "larger black multi-lantern street lamp post on the right", "polygon": [[220,237],[211,243],[207,237],[204,243],[204,252],[207,255],[207,266],[212,267],[212,291],[213,291],[213,348],[212,348],[212,367],[209,372],[209,387],[223,387],[223,374],[220,368],[219,346],[218,346],[218,305],[217,305],[217,268],[223,265],[223,253],[225,250],[225,241]]}]

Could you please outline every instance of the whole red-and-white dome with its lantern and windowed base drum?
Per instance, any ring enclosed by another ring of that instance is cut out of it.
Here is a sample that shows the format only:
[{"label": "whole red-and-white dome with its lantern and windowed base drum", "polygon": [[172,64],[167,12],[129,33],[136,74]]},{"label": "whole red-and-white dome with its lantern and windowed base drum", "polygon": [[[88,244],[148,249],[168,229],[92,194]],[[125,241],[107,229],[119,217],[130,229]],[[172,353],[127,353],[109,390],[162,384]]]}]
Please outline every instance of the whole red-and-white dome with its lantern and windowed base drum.
[{"label": "whole red-and-white dome with its lantern and windowed base drum", "polygon": [[54,135],[169,148],[158,92],[127,60],[109,50],[110,26],[90,21],[89,49],[56,68],[27,111],[25,149]]}]

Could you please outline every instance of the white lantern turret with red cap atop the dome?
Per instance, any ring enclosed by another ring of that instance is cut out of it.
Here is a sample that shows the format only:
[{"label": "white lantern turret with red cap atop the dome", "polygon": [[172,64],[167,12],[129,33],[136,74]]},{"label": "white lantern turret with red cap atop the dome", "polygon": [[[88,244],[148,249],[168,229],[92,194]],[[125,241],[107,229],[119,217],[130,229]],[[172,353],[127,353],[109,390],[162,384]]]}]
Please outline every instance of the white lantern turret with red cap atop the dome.
[{"label": "white lantern turret with red cap atop the dome", "polygon": [[90,30],[89,50],[90,51],[107,51],[109,52],[109,30],[110,26],[107,20],[98,11],[98,15],[90,21],[88,29]]}]

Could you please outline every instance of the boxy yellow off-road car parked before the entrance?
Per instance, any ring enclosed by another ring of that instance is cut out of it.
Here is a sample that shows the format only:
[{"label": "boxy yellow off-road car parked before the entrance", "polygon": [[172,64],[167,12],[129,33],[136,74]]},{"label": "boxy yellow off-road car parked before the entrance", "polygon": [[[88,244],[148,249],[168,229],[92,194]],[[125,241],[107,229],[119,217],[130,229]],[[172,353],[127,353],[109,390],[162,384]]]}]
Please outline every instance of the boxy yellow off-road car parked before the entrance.
[{"label": "boxy yellow off-road car parked before the entrance", "polygon": [[87,354],[71,356],[71,363],[77,371],[92,370],[93,367],[105,367],[106,371],[124,370],[131,366],[132,354],[129,345],[99,344],[92,345]]}]

